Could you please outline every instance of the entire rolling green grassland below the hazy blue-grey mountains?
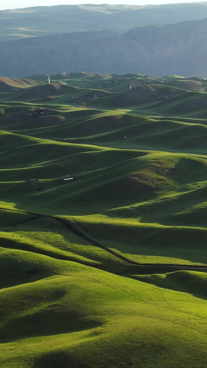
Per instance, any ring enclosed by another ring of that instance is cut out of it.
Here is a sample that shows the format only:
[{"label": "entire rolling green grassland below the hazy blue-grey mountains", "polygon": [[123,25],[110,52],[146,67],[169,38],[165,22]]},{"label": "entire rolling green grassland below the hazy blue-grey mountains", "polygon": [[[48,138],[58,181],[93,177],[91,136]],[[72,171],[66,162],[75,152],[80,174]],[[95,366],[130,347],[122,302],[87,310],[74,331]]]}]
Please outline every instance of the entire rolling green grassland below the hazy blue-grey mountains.
[{"label": "entire rolling green grassland below the hazy blue-grey mountains", "polygon": [[0,366],[207,367],[206,81],[50,81],[0,77]]}]

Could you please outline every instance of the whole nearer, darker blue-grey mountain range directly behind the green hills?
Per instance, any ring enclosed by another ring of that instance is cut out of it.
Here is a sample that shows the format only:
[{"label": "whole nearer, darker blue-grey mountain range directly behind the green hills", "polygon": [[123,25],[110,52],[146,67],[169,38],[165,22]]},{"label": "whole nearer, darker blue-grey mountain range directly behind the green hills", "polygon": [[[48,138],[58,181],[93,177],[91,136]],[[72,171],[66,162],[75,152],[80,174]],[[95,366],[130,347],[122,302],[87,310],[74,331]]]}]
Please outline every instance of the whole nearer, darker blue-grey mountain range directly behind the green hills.
[{"label": "whole nearer, darker blue-grey mountain range directly behind the green hills", "polygon": [[88,31],[0,43],[0,75],[88,71],[207,75],[207,19],[133,28],[125,35]]}]

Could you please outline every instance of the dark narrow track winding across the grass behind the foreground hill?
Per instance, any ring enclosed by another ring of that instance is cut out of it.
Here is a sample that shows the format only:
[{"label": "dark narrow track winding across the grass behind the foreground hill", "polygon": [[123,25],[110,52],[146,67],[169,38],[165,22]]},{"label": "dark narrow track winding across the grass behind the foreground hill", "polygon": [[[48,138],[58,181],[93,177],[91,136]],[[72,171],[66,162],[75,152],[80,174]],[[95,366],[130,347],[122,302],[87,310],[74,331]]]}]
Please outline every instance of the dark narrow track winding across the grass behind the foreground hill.
[{"label": "dark narrow track winding across the grass behind the foreground hill", "polygon": [[[203,265],[195,265],[195,264],[170,264],[170,263],[139,263],[139,262],[135,262],[133,260],[130,260],[130,258],[125,257],[124,255],[121,255],[119,253],[117,253],[116,251],[103,246],[102,244],[100,244],[99,242],[97,242],[96,240],[93,240],[92,238],[90,238],[88,235],[86,235],[85,233],[83,233],[82,231],[80,231],[79,229],[77,229],[70,221],[66,220],[63,217],[57,217],[57,216],[52,216],[52,215],[42,215],[40,213],[34,213],[34,212],[29,212],[29,211],[22,211],[22,210],[17,210],[17,209],[8,209],[6,207],[0,207],[0,210],[6,210],[6,211],[12,211],[12,212],[20,212],[20,213],[27,213],[28,215],[33,215],[34,217],[31,217],[30,219],[27,220],[22,220],[22,221],[18,221],[18,222],[14,222],[12,224],[8,224],[6,226],[16,226],[18,224],[23,224],[26,222],[30,222],[32,220],[37,220],[37,218],[41,218],[41,217],[45,217],[51,220],[55,220],[57,222],[59,222],[61,225],[63,225],[66,229],[70,230],[72,233],[74,233],[75,235],[79,236],[79,238],[82,238],[84,240],[86,240],[87,242],[90,242],[90,244],[93,244],[97,247],[99,247],[100,249],[103,249],[103,251],[106,251],[108,253],[110,253],[111,255],[114,255],[117,259],[124,261],[128,264],[132,264],[134,266],[139,267],[139,271],[144,271],[144,273],[146,273],[146,271],[150,270],[150,273],[152,273],[152,269],[154,269],[154,271],[156,271],[155,273],[157,273],[157,269],[164,269],[164,271],[166,271],[166,268],[169,269],[169,271],[179,271],[179,270],[188,270],[188,271],[199,271],[199,270],[206,270],[207,271],[207,266],[203,266]],[[6,227],[6,226],[2,226],[2,227]]]}]

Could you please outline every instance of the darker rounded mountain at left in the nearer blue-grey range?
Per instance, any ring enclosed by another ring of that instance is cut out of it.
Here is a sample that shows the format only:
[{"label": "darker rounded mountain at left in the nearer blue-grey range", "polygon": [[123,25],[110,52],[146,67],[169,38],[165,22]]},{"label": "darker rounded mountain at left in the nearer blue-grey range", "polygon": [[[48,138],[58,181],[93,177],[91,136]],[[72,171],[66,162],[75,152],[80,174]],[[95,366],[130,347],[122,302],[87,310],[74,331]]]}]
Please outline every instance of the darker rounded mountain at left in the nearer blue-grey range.
[{"label": "darker rounded mountain at left in the nearer blue-grey range", "polygon": [[[150,70],[144,47],[115,32],[91,31],[0,43],[1,75]],[[140,57],[139,57],[140,55]],[[151,71],[151,70],[150,70]]]}]

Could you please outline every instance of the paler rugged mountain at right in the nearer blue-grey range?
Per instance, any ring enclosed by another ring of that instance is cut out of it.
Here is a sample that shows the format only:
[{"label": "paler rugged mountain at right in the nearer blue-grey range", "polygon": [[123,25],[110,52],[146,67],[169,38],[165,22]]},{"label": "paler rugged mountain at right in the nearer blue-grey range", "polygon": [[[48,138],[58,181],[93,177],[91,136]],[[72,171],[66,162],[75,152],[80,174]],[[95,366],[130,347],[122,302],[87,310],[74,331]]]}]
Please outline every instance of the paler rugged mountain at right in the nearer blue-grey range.
[{"label": "paler rugged mountain at right in the nearer blue-grey range", "polygon": [[207,75],[207,19],[133,28],[124,36],[143,46],[163,75]]}]

